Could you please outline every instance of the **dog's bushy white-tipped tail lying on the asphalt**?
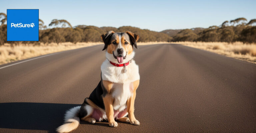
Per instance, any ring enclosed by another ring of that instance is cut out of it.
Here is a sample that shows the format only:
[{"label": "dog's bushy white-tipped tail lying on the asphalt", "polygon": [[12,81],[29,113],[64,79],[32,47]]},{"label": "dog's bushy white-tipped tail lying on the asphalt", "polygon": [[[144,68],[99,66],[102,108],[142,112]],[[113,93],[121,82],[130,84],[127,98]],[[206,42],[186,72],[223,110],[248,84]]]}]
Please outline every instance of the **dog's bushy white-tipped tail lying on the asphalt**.
[{"label": "dog's bushy white-tipped tail lying on the asphalt", "polygon": [[80,124],[79,113],[81,106],[69,109],[65,114],[65,124],[59,126],[56,131],[59,133],[67,133],[76,129]]}]

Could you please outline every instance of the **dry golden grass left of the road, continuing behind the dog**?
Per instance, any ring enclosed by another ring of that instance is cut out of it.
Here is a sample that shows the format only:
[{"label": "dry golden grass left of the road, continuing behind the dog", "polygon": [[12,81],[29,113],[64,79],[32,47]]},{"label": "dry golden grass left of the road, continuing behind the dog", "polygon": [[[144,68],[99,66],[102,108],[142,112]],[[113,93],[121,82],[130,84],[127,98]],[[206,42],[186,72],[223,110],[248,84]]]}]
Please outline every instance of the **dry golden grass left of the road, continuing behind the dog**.
[{"label": "dry golden grass left of the road, continuing behind the dog", "polygon": [[[167,43],[167,42],[146,42],[146,43],[138,43],[138,45],[150,45],[150,44],[160,44],[160,43]],[[0,64],[9,63],[16,60],[27,59],[31,57],[36,57],[40,55],[77,49],[87,46],[93,46],[103,44],[102,42],[88,42],[88,43],[60,43],[57,45],[56,43],[51,43],[49,45],[19,45],[11,47],[10,44],[4,44],[0,46]]]}]

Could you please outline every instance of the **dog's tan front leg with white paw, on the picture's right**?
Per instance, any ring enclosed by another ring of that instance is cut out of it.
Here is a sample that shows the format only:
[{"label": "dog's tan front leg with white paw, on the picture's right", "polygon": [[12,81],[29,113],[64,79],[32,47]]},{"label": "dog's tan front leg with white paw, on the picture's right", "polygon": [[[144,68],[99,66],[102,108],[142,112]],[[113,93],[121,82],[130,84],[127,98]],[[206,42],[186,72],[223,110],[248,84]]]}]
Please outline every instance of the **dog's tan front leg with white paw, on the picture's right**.
[{"label": "dog's tan front leg with white paw, on the picture's right", "polygon": [[133,82],[133,95],[127,100],[127,112],[132,125],[140,125],[140,122],[134,116],[134,101],[136,97],[136,89],[139,86],[139,80]]}]

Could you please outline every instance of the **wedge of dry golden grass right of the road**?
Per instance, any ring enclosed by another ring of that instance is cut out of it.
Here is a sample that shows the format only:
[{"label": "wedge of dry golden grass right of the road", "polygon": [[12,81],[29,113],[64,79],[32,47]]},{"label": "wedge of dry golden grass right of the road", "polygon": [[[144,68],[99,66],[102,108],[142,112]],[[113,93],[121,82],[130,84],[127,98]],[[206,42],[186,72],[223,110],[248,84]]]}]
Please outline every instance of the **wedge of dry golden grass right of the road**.
[{"label": "wedge of dry golden grass right of the road", "polygon": [[185,46],[211,51],[228,57],[245,60],[256,64],[256,44],[242,42],[174,42]]}]

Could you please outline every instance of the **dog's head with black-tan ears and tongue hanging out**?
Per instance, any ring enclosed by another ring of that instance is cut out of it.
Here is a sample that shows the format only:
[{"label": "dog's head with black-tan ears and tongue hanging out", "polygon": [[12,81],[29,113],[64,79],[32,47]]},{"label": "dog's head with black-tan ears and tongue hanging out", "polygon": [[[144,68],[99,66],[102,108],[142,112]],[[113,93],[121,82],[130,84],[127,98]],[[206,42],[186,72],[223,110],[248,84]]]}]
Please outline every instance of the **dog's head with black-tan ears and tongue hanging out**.
[{"label": "dog's head with black-tan ears and tongue hanging out", "polygon": [[123,64],[127,63],[134,57],[133,47],[137,48],[137,41],[139,36],[126,31],[125,33],[115,33],[109,31],[101,35],[106,49],[106,57],[109,61]]}]

